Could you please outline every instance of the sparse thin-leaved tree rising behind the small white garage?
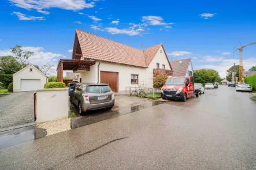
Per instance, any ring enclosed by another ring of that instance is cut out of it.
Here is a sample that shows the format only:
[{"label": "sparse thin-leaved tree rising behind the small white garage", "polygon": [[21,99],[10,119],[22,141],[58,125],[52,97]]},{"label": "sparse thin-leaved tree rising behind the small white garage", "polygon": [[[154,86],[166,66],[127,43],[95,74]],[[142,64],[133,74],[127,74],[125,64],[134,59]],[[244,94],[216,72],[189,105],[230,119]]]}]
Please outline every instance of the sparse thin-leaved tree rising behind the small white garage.
[{"label": "sparse thin-leaved tree rising behind the small white garage", "polygon": [[28,61],[29,57],[31,57],[31,55],[34,55],[34,52],[23,51],[21,48],[22,48],[22,46],[17,45],[13,48],[10,48],[10,50],[15,55],[14,57],[17,59],[17,61],[20,62],[21,66],[24,68],[25,66],[27,66],[29,64],[27,61]]}]

